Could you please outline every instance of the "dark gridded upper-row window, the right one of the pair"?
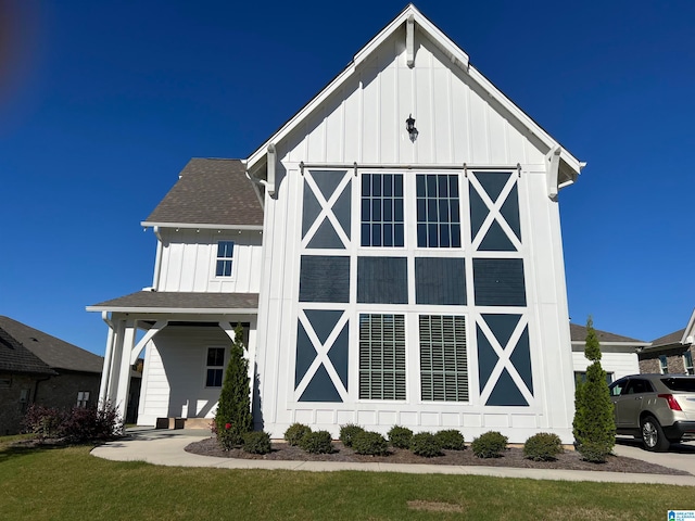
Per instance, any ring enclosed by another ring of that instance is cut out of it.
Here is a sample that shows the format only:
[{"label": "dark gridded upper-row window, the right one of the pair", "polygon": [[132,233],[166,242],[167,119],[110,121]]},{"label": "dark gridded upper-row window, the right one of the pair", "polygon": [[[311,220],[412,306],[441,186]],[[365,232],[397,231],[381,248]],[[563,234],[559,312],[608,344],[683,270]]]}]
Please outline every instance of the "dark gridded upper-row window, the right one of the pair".
[{"label": "dark gridded upper-row window, the right one of the pair", "polygon": [[418,247],[460,247],[458,175],[419,174],[416,183]]}]

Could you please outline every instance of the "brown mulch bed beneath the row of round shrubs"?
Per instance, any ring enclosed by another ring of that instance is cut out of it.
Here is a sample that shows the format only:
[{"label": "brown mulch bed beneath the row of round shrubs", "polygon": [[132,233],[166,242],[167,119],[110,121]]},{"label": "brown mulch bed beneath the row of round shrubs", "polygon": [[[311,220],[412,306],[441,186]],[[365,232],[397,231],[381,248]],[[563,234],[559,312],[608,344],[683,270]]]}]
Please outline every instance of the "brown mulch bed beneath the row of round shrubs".
[{"label": "brown mulch bed beneath the row of round shrubs", "polygon": [[564,469],[564,470],[592,470],[607,472],[648,473],[691,475],[681,470],[669,469],[659,465],[648,463],[640,459],[609,456],[605,463],[591,463],[583,461],[576,450],[565,450],[555,461],[531,461],[525,459],[523,450],[519,447],[507,448],[500,458],[481,459],[473,455],[470,448],[466,450],[444,450],[443,456],[424,458],[409,450],[391,448],[389,456],[361,456],[352,448],[345,447],[340,442],[333,442],[332,454],[308,454],[299,447],[287,443],[273,443],[270,454],[257,455],[244,453],[241,448],[223,450],[217,440],[208,437],[200,442],[191,443],[186,447],[189,453],[201,456],[215,456],[218,458],[238,459],[265,459],[290,461],[346,461],[346,462],[386,462],[386,463],[425,463],[425,465],[456,465],[456,466],[484,466],[484,467],[514,467],[521,469]]}]

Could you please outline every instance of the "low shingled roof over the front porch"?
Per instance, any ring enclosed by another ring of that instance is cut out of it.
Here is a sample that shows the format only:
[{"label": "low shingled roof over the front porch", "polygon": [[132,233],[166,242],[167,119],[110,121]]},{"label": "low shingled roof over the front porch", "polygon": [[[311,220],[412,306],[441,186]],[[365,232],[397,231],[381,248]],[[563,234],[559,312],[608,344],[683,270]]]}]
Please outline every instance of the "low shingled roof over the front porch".
[{"label": "low shingled roof over the front porch", "polygon": [[257,309],[257,293],[184,293],[174,291],[138,291],[111,301],[88,306],[91,312],[156,309]]}]

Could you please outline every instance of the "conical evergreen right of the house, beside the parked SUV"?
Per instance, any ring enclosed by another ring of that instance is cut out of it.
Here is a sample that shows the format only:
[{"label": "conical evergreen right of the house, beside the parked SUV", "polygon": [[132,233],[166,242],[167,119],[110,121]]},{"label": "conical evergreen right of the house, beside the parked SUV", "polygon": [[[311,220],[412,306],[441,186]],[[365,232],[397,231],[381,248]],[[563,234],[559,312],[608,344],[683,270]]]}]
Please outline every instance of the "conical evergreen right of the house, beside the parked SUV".
[{"label": "conical evergreen right of the house, beside the parked SUV", "polygon": [[616,444],[616,422],[606,371],[601,367],[601,344],[591,317],[586,321],[584,356],[593,364],[586,368],[586,381],[577,382],[573,434],[577,449],[585,460],[604,462]]}]

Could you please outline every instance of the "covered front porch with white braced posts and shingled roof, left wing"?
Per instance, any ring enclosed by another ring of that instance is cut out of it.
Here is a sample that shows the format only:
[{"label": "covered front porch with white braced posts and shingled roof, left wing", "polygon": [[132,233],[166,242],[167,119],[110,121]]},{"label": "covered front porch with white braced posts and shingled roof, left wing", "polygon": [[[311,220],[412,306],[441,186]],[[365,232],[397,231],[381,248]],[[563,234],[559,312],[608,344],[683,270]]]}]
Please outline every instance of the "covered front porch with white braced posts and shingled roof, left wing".
[{"label": "covered front porch with white braced posts and shingled roof, left wing", "polygon": [[130,371],[144,353],[137,424],[200,427],[214,417],[238,323],[254,381],[257,301],[251,293],[141,291],[88,306],[109,327],[100,404],[125,418]]}]

